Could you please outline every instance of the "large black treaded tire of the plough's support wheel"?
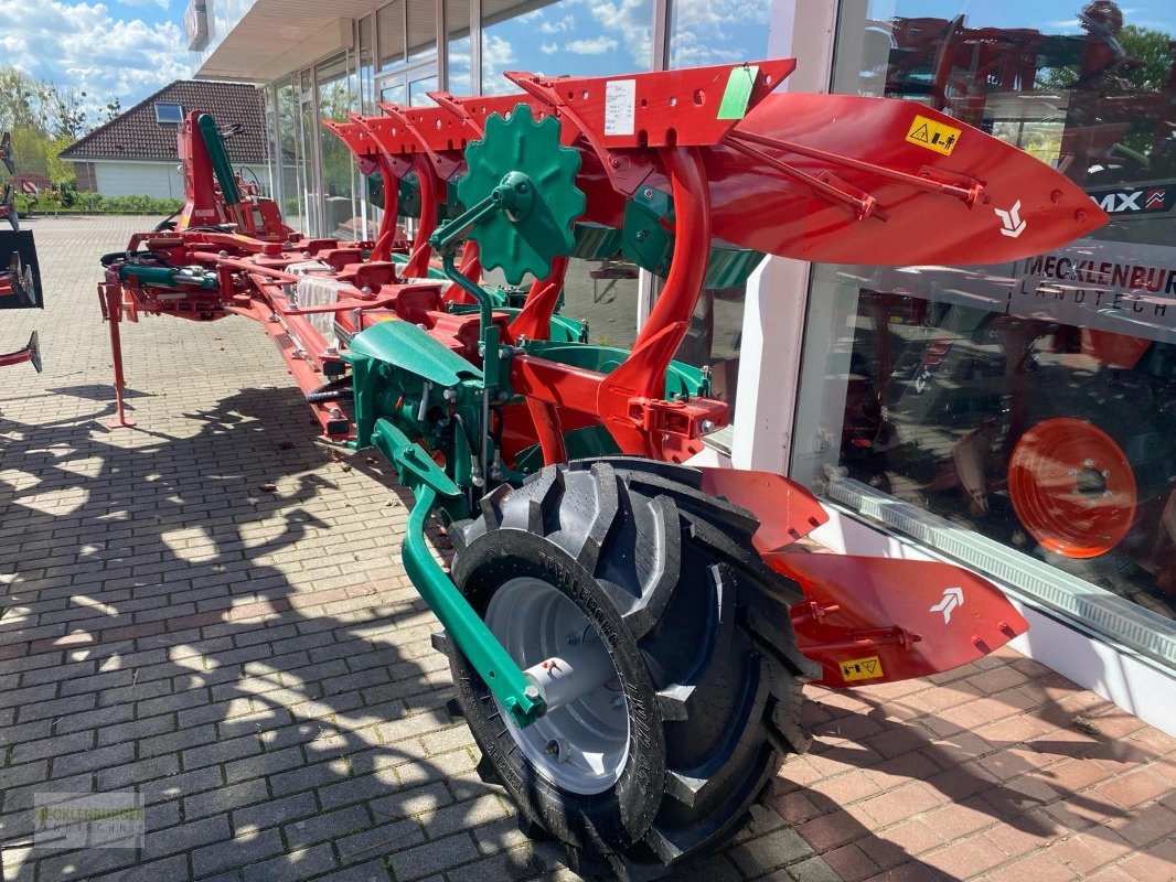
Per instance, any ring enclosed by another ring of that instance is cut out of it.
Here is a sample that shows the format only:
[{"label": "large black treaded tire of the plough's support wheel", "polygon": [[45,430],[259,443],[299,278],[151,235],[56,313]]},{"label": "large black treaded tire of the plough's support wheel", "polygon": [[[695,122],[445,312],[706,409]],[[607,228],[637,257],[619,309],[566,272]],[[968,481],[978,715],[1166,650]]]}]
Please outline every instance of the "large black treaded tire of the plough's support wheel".
[{"label": "large black treaded tire of the plough's support wheel", "polygon": [[619,671],[628,754],[615,784],[582,795],[524,756],[486,683],[448,648],[482,766],[523,829],[561,840],[574,867],[656,878],[714,851],[783,755],[809,744],[801,687],[820,670],[789,619],[802,594],[754,550],[754,515],[700,485],[682,466],[581,460],[497,488],[481,516],[449,530],[454,581],[479,615],[509,580],[543,580],[593,623]]}]

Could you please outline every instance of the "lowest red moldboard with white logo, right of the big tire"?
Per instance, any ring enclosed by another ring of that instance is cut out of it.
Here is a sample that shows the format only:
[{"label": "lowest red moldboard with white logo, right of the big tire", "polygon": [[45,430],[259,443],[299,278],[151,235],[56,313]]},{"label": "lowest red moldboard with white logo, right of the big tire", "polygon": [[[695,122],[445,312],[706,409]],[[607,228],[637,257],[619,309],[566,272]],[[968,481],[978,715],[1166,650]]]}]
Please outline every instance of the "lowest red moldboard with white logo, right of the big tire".
[{"label": "lowest red moldboard with white logo, right of the big tire", "polygon": [[793,627],[828,687],[950,670],[1029,629],[996,586],[950,563],[790,553],[763,560],[804,590]]}]

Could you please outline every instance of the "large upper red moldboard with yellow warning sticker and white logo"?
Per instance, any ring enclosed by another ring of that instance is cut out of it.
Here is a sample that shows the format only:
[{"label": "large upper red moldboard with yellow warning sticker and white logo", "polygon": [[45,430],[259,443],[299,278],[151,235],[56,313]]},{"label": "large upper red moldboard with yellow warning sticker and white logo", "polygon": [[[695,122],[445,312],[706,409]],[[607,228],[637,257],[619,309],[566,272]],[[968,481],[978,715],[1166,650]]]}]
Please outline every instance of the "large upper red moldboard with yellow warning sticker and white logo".
[{"label": "large upper red moldboard with yellow warning sticker and white logo", "polygon": [[[841,189],[876,200],[857,220],[844,206],[720,145],[706,151],[714,234],[769,254],[828,263],[1002,263],[1061,247],[1108,221],[1073,181],[1013,145],[910,101],[773,94],[735,133],[835,153],[941,183],[982,185],[973,205],[908,181],[761,146]],[[774,181],[774,185],[773,182]]]}]

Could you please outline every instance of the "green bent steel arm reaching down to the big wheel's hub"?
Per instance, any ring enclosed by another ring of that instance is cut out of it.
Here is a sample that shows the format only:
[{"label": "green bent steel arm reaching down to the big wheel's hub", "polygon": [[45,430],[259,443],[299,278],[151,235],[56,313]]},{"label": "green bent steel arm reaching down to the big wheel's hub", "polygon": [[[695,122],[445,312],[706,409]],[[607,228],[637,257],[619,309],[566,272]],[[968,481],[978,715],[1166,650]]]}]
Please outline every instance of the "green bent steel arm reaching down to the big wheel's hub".
[{"label": "green bent steel arm reaching down to the big wheel's hub", "polygon": [[499,703],[519,726],[529,726],[546,710],[539,688],[527,680],[425,543],[425,524],[433,509],[447,497],[460,499],[461,490],[419,445],[387,420],[376,420],[373,441],[396,466],[401,482],[416,495],[401,549],[408,577]]}]

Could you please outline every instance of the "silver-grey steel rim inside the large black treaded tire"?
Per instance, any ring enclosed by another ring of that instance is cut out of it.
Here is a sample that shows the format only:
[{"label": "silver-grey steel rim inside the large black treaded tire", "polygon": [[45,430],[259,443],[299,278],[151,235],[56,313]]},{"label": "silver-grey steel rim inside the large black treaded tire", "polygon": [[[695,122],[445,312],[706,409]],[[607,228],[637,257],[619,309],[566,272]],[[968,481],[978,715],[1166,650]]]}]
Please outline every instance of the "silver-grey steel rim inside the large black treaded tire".
[{"label": "silver-grey steel rim inside the large black treaded tire", "polygon": [[[486,624],[523,669],[557,656],[569,635],[600,640],[566,594],[532,576],[512,579],[494,593]],[[497,700],[495,704],[520,750],[549,783],[587,796],[620,780],[629,757],[629,709],[619,673],[526,728],[516,726]]]}]

